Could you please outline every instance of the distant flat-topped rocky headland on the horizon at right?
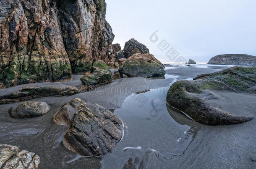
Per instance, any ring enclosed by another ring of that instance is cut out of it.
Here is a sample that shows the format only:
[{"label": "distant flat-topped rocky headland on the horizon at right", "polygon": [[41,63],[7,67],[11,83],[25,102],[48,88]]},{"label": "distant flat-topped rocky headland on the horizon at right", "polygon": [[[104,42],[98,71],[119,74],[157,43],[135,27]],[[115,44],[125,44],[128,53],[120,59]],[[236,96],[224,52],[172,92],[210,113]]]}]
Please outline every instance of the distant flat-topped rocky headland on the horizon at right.
[{"label": "distant flat-topped rocky headland on the horizon at right", "polygon": [[256,57],[245,54],[225,54],[211,58],[207,64],[256,66]]}]

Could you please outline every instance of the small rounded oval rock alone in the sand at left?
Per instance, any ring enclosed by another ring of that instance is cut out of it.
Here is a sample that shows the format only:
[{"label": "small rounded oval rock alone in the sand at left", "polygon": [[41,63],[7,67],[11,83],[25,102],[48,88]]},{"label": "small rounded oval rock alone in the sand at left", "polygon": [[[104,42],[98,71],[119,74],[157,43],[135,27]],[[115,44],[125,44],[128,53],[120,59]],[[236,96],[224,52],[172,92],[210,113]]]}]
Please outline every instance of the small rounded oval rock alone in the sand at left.
[{"label": "small rounded oval rock alone in the sand at left", "polygon": [[16,108],[11,107],[9,109],[9,114],[12,118],[21,119],[42,116],[49,110],[50,106],[47,103],[26,101],[19,104]]}]

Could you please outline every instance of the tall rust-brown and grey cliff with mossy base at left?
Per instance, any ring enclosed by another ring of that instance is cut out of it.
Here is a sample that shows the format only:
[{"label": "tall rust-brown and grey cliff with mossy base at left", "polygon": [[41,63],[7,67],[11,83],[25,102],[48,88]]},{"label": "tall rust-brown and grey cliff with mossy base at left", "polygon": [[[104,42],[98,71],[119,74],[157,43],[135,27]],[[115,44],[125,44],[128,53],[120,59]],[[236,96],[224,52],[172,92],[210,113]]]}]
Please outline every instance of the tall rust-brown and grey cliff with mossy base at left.
[{"label": "tall rust-brown and grey cliff with mossy base at left", "polygon": [[68,81],[108,61],[104,0],[1,0],[0,88]]}]

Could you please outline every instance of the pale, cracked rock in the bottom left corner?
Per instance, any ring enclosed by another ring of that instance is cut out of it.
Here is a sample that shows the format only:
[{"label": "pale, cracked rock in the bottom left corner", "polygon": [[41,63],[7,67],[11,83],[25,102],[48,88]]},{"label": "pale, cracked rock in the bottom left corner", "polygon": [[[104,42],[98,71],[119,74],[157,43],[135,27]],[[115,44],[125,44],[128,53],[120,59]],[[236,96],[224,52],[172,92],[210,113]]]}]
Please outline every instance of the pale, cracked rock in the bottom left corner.
[{"label": "pale, cracked rock in the bottom left corner", "polygon": [[16,146],[0,144],[0,169],[37,169],[40,157]]}]

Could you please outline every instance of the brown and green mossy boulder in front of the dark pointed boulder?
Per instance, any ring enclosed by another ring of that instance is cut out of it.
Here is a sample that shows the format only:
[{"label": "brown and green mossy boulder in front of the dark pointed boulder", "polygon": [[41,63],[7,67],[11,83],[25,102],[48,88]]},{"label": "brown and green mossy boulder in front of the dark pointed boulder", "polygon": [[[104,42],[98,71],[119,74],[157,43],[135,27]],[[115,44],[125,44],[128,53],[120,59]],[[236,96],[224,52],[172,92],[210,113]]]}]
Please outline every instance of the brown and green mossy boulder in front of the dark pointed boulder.
[{"label": "brown and green mossy boulder in front of the dark pointed boulder", "polygon": [[128,77],[162,77],[165,76],[164,68],[165,66],[153,55],[136,53],[123,63],[119,72]]}]

